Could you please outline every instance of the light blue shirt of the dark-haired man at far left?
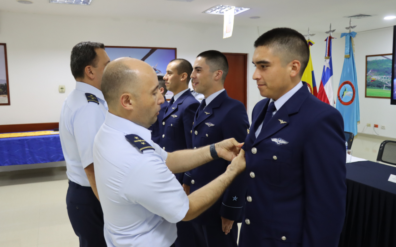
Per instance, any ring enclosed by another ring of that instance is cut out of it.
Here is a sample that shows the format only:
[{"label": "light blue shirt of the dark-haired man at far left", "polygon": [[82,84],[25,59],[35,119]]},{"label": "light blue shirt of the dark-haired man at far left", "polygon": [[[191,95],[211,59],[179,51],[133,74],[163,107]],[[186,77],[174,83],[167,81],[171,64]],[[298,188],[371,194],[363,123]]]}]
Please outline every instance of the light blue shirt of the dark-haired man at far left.
[{"label": "light blue shirt of the dark-haired man at far left", "polygon": [[[99,100],[88,102],[85,93]],[[65,156],[67,177],[82,186],[91,186],[84,171],[93,162],[93,140],[105,122],[107,103],[102,91],[83,82],[76,82],[76,89],[63,102],[59,120],[59,137]]]}]

